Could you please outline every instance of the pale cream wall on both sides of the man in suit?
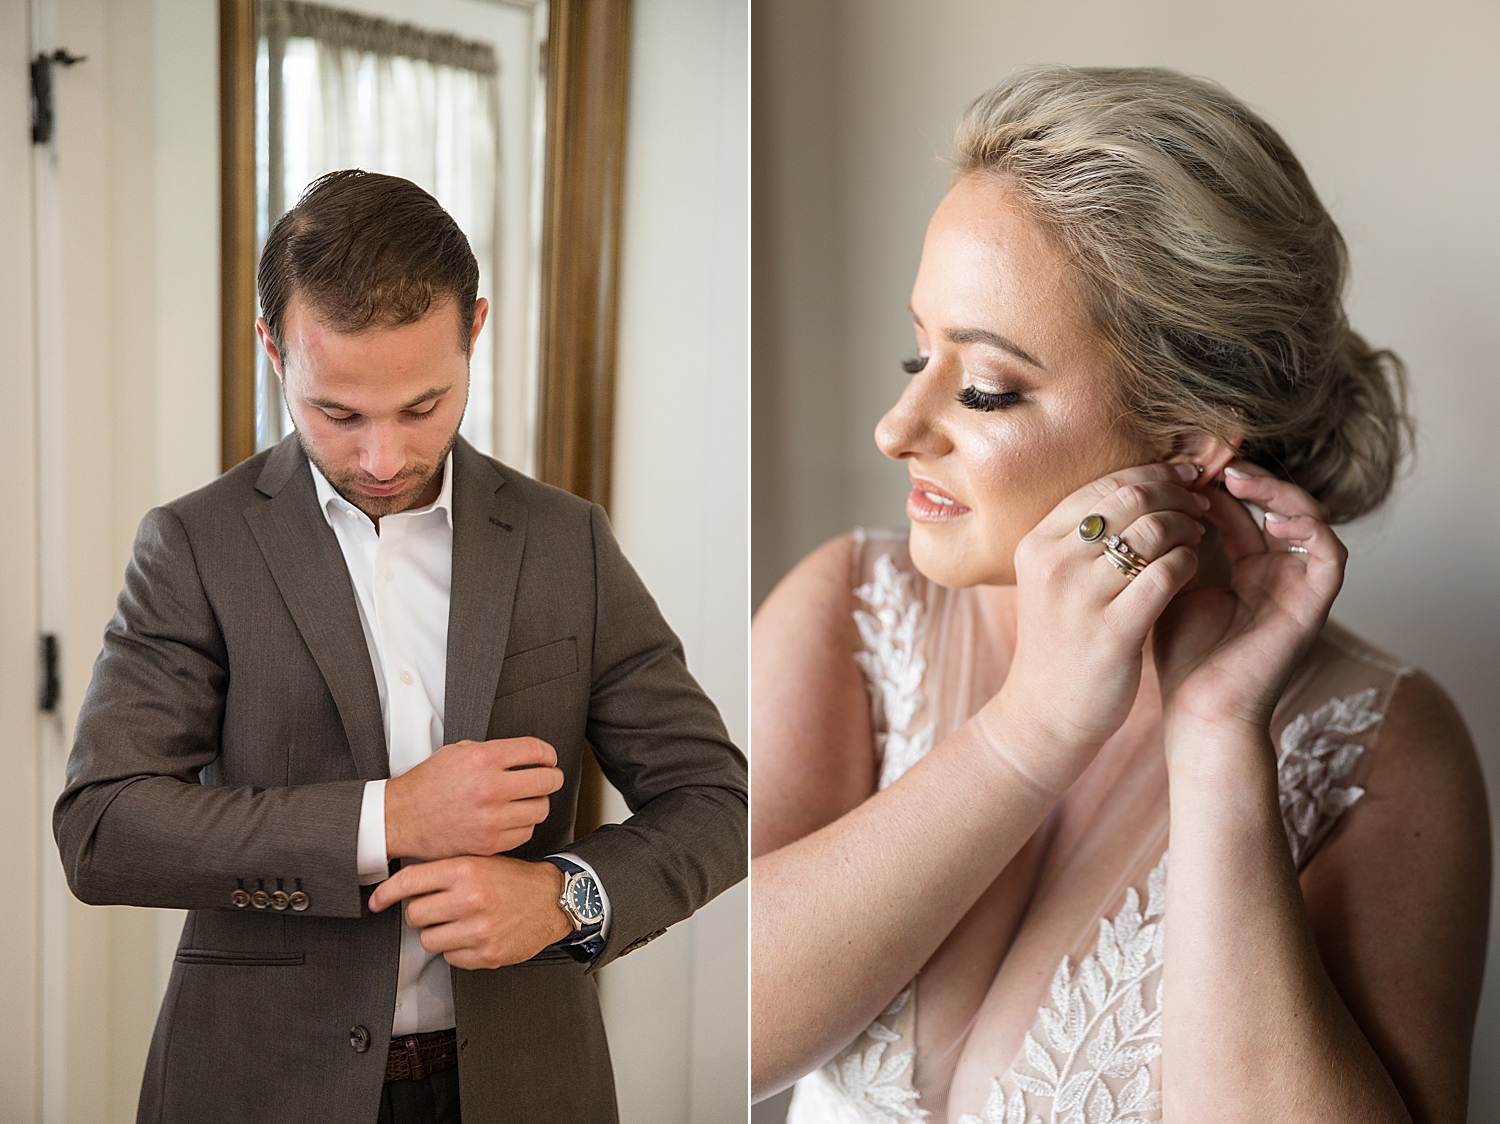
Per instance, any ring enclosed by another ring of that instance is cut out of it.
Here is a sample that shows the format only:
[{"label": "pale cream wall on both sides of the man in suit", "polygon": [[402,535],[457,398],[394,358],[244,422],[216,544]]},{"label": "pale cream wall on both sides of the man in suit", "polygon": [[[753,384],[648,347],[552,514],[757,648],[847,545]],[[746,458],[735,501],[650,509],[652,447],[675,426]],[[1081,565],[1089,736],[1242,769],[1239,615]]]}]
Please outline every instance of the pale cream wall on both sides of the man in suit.
[{"label": "pale cream wall on both sides of the man in suit", "polygon": [[[218,473],[218,6],[0,0],[0,1124],[135,1118],[182,914],[80,905],[51,804],[141,515]],[[408,5],[420,18],[417,0]],[[636,0],[621,261],[620,537],[746,732],[747,17]],[[27,135],[33,50],[57,143]],[[717,351],[681,347],[678,314]],[[692,471],[672,450],[692,444]],[[63,648],[36,713],[36,635]],[[603,974],[627,1124],[744,1118],[744,888]]]}]

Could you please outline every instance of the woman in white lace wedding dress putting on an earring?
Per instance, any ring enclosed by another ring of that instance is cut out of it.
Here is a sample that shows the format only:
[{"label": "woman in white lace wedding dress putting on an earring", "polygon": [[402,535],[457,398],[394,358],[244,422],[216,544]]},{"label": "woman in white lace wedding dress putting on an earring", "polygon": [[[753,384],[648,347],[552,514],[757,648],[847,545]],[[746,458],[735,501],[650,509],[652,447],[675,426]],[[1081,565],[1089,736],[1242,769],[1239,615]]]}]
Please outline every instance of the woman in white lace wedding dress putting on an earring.
[{"label": "woman in white lace wedding dress putting on an earring", "polygon": [[754,624],[756,1095],[1464,1119],[1488,810],[1442,689],[1328,620],[1407,434],[1336,228],[1168,71],[1022,71],[956,150],[876,429],[910,531]]}]

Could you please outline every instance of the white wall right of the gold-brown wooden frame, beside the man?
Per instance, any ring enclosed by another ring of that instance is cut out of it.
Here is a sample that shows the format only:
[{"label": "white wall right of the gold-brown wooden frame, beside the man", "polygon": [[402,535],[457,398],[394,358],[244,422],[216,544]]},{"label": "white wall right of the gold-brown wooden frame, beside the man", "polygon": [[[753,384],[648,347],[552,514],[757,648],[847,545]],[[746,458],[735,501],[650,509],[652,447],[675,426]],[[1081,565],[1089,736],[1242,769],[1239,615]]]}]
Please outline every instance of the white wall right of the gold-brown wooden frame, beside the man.
[{"label": "white wall right of the gold-brown wooden frame, beside the man", "polygon": [[[747,11],[633,9],[612,515],[744,746]],[[746,1119],[747,920],[741,884],[600,974],[624,1124]]]}]

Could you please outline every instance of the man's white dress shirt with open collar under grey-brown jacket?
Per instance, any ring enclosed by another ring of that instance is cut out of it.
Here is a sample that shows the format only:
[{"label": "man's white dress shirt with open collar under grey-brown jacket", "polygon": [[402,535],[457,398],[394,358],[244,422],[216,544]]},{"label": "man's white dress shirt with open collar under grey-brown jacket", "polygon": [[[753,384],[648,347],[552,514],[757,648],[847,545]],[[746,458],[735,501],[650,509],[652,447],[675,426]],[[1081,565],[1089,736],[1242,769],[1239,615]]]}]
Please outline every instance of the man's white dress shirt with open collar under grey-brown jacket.
[{"label": "man's white dress shirt with open collar under grey-brown jacket", "polygon": [[[442,465],[438,498],[426,507],[381,516],[378,531],[364,512],[334,491],[316,465],[309,464],[309,468],[318,506],[339,540],[354,585],[360,627],[380,690],[390,774],[399,777],[444,744],[442,692],[453,590],[453,455],[448,453]],[[567,857],[594,873],[576,855]],[[388,875],[384,780],[364,785],[357,866],[362,885]],[[603,885],[600,897],[608,933],[609,897]],[[422,947],[420,930],[402,921],[392,1035],[453,1025],[448,965],[441,953]]]}]

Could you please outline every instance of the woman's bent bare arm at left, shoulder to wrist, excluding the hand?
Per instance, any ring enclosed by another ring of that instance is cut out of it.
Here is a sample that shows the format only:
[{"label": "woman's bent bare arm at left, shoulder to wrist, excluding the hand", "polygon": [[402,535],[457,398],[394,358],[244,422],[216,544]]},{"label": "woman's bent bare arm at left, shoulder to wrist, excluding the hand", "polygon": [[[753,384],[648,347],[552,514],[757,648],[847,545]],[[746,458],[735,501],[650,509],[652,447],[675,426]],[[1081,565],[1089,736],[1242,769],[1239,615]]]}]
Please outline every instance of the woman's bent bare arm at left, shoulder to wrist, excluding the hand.
[{"label": "woman's bent bare arm at left, shoulder to wrist, excluding the hand", "polygon": [[752,630],[756,1097],[852,1041],[1054,803],[968,728],[870,795],[850,552],[810,555]]}]

